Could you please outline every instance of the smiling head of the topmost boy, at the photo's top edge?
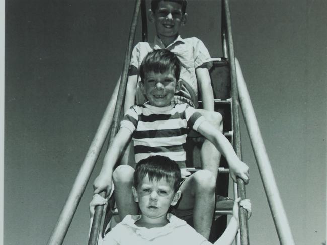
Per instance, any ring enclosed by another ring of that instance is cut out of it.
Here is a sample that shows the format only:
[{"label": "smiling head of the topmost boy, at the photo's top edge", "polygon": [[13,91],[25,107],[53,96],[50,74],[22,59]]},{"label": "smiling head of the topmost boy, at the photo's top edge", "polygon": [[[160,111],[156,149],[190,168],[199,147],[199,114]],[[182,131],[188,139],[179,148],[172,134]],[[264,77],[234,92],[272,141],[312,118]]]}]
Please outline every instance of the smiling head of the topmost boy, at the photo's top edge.
[{"label": "smiling head of the topmost boy, at the photo's top edge", "polygon": [[186,14],[182,5],[172,1],[160,1],[157,9],[150,11],[149,20],[155,24],[156,33],[162,41],[174,41],[181,25],[186,23]]}]

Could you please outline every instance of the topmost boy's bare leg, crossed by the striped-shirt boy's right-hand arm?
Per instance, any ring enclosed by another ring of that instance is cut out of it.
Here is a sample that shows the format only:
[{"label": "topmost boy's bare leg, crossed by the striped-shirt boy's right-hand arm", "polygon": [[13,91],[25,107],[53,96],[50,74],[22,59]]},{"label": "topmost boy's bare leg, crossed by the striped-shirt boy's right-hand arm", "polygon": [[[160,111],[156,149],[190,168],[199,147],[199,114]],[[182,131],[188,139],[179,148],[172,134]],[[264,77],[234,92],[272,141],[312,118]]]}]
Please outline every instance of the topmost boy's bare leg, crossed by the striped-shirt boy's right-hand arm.
[{"label": "topmost boy's bare leg, crossed by the striped-shirt boy's right-hand arm", "polygon": [[[222,131],[222,116],[219,112],[207,111],[197,109],[212,125]],[[220,163],[221,154],[217,148],[209,141],[205,140],[201,147],[201,164],[202,169],[207,169],[212,172],[215,179],[217,179],[218,168]]]}]

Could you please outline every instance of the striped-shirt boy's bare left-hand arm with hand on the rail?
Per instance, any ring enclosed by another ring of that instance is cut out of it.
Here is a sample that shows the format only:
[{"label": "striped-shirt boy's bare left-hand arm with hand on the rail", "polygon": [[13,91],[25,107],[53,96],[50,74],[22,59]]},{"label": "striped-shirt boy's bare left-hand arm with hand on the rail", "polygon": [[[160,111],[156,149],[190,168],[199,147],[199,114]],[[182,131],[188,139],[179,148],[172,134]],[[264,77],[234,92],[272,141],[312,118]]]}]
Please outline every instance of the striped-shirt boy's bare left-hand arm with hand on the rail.
[{"label": "striped-shirt boy's bare left-hand arm with hand on the rail", "polygon": [[111,190],[113,168],[120,157],[124,147],[130,141],[131,132],[127,128],[120,128],[112,144],[109,146],[105,155],[100,174],[93,183],[94,193],[106,190],[109,195]]}]

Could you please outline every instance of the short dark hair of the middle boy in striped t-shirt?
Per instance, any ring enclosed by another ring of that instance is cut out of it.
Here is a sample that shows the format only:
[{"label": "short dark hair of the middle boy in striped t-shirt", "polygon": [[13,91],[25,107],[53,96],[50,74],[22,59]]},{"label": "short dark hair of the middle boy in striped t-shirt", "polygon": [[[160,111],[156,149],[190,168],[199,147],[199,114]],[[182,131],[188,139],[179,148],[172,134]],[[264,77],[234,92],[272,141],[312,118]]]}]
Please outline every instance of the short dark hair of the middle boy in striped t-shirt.
[{"label": "short dark hair of the middle boy in striped t-shirt", "polygon": [[177,56],[167,49],[157,49],[148,53],[140,65],[141,81],[148,72],[164,73],[173,71],[176,81],[180,79],[181,62]]}]

